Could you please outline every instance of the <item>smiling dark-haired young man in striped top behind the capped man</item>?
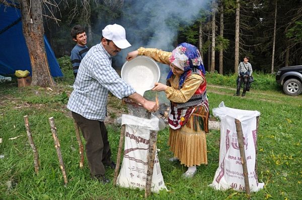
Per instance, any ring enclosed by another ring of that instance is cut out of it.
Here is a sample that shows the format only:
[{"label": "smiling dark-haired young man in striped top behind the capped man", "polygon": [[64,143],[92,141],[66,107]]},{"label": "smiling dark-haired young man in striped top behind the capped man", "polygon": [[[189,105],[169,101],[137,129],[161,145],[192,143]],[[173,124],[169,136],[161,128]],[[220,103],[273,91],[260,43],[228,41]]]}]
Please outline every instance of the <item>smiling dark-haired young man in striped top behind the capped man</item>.
[{"label": "smiling dark-haired young man in striped top behind the capped man", "polygon": [[77,77],[80,63],[89,50],[88,46],[86,45],[87,36],[85,29],[81,25],[75,25],[74,27],[72,27],[70,35],[72,37],[72,40],[74,42],[77,42],[77,44],[71,50],[70,54],[73,75],[74,77]]}]

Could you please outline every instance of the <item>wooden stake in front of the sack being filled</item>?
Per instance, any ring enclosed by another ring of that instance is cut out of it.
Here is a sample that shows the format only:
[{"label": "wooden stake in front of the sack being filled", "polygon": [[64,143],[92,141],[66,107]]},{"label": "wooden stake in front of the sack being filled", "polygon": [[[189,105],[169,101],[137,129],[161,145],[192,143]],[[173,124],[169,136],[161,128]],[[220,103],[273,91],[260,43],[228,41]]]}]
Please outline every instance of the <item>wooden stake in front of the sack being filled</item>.
[{"label": "wooden stake in front of the sack being filled", "polygon": [[154,159],[155,159],[155,153],[157,151],[156,143],[157,143],[157,132],[151,131],[149,150],[148,150],[148,169],[147,169],[147,177],[146,177],[146,184],[145,184],[145,198],[147,198],[151,193]]}]

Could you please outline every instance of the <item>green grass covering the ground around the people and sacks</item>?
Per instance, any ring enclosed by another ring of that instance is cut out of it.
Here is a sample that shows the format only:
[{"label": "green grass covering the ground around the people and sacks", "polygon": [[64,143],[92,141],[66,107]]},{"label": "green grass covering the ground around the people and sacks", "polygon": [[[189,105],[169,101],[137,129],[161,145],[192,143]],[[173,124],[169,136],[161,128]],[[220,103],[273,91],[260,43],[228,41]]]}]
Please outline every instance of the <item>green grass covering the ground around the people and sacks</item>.
[{"label": "green grass covering the ground around the people and sacks", "polygon": [[[78,143],[73,120],[66,109],[72,90],[71,69],[66,78],[56,79],[54,91],[39,87],[18,88],[17,82],[2,83],[0,88],[0,199],[142,199],[144,191],[102,185],[89,176],[87,160],[79,168]],[[302,196],[302,95],[287,96],[273,75],[254,74],[255,82],[246,97],[233,96],[235,75],[206,75],[210,112],[221,101],[226,107],[257,110],[261,113],[258,133],[258,176],[265,187],[252,193],[252,199],[298,199]],[[123,110],[118,99],[110,98],[109,107]],[[23,117],[28,115],[30,129],[40,157],[35,174],[33,152],[28,143]],[[117,116],[112,113],[111,117]],[[54,117],[61,152],[68,176],[64,186],[48,118]],[[108,125],[113,160],[116,160],[120,127]],[[17,139],[9,140],[16,136]],[[169,191],[152,194],[148,199],[246,199],[245,193],[217,191],[209,187],[218,167],[219,131],[207,134],[208,165],[197,167],[192,179],[183,179],[186,168],[172,157],[167,145],[168,128],[158,134],[159,159]],[[83,140],[84,141],[84,140]],[[112,179],[114,171],[106,175]]]}]

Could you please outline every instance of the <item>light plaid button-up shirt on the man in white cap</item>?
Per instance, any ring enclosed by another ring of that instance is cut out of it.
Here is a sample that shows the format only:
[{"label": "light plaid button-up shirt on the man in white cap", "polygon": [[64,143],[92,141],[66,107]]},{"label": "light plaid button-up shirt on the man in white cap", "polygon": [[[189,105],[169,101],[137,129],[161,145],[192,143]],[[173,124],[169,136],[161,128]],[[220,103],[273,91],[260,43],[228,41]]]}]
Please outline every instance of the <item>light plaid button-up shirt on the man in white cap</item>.
[{"label": "light plaid button-up shirt on the man in white cap", "polygon": [[135,90],[111,66],[111,56],[102,44],[93,46],[81,61],[67,108],[90,120],[104,121],[108,92],[118,98]]}]

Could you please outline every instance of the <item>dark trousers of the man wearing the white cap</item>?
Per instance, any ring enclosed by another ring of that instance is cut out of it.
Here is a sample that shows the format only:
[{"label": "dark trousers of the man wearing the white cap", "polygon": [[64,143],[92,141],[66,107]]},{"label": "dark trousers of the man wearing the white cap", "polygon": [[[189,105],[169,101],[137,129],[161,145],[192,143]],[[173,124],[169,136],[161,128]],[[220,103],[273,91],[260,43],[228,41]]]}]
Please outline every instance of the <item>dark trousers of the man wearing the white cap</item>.
[{"label": "dark trousers of the man wearing the white cap", "polygon": [[86,140],[86,156],[92,177],[104,176],[104,165],[112,163],[111,150],[104,122],[89,120],[71,112],[74,121],[80,126]]}]

